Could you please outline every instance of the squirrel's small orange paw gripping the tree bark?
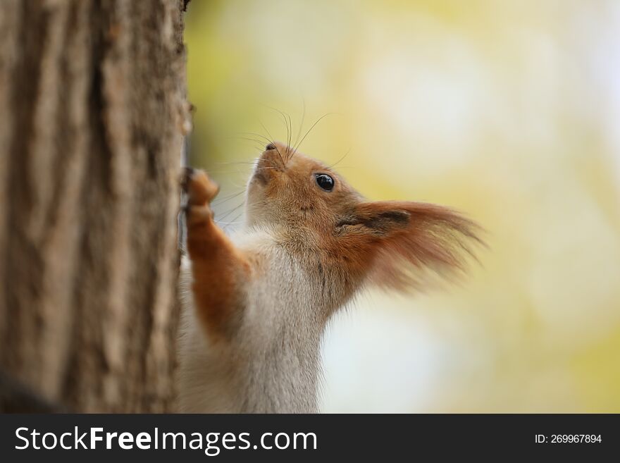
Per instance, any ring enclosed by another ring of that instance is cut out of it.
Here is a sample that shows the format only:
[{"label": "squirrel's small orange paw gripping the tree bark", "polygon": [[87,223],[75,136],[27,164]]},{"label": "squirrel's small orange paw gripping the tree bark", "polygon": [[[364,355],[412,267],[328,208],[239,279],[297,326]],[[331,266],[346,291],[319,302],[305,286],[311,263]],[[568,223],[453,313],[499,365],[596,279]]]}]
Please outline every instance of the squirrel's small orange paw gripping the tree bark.
[{"label": "squirrel's small orange paw gripping the tree bark", "polygon": [[187,214],[188,223],[197,223],[213,217],[213,211],[209,204],[220,191],[217,183],[213,182],[205,171],[186,167],[181,185],[183,191],[187,193]]}]

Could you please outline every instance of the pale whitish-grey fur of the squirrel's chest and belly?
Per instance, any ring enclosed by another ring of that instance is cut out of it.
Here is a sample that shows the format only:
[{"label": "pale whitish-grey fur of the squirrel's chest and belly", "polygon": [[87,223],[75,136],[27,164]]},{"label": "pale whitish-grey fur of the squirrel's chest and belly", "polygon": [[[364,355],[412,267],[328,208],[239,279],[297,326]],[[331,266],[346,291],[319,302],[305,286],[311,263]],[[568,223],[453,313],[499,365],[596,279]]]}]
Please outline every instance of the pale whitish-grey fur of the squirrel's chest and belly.
[{"label": "pale whitish-grey fur of the squirrel's chest and belly", "polygon": [[194,313],[191,262],[180,276],[178,392],[181,412],[316,412],[320,376],[318,314],[310,276],[267,233],[235,237],[259,250],[239,330],[213,342]]}]

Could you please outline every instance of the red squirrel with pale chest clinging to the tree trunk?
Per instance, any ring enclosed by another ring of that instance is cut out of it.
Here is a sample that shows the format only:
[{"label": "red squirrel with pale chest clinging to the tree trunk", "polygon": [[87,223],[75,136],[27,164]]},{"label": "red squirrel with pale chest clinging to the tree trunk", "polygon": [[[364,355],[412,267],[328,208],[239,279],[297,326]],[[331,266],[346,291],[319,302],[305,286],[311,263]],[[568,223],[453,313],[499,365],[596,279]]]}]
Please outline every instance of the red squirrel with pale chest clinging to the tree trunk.
[{"label": "red squirrel with pale chest clinging to the tree trunk", "polygon": [[368,201],[280,142],[256,162],[233,237],[213,220],[216,183],[192,168],[183,176],[181,412],[318,412],[330,317],[365,288],[420,289],[424,269],[462,271],[482,243],[481,228],[456,211]]}]

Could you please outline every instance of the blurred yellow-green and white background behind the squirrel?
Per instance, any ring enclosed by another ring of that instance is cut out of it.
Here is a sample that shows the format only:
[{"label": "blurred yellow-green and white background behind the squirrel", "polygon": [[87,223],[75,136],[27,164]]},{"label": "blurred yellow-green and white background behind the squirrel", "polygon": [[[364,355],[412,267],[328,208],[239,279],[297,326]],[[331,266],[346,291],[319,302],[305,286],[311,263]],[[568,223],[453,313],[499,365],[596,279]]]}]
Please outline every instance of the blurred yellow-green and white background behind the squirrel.
[{"label": "blurred yellow-green and white background behind the squirrel", "polygon": [[191,162],[224,228],[282,111],[293,140],[329,113],[300,151],[346,154],[366,197],[488,230],[464,284],[333,320],[323,412],[620,412],[620,2],[192,1],[186,20]]}]

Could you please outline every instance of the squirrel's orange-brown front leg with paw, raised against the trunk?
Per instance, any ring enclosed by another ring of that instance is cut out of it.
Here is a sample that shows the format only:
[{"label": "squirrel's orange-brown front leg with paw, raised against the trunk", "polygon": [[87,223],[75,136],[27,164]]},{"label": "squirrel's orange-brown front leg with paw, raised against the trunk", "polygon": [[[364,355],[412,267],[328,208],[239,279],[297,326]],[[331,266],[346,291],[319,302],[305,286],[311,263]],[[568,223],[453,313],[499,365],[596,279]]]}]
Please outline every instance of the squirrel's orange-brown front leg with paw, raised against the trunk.
[{"label": "squirrel's orange-brown front leg with paw, raised against the trunk", "polygon": [[195,310],[209,334],[229,337],[245,306],[249,263],[213,221],[210,203],[218,185],[204,171],[187,168],[183,187]]}]

